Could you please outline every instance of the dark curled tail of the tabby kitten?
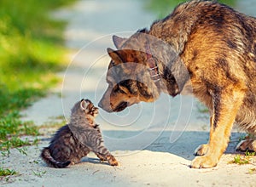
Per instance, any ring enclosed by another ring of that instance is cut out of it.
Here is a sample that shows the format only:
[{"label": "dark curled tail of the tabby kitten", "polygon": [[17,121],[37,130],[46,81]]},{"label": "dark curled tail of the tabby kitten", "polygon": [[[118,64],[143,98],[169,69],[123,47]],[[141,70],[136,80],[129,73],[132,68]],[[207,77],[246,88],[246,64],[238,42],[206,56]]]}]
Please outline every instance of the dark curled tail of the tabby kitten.
[{"label": "dark curled tail of the tabby kitten", "polygon": [[71,162],[71,161],[65,161],[65,162],[55,161],[55,159],[50,155],[48,147],[45,147],[44,150],[42,150],[41,157],[50,167],[55,167],[55,168],[67,167]]}]

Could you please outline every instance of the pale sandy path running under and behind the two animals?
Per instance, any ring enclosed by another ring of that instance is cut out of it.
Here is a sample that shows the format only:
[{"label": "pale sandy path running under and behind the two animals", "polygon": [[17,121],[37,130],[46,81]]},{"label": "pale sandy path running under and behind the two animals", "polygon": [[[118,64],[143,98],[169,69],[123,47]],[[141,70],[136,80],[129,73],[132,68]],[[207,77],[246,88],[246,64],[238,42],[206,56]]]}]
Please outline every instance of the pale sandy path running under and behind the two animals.
[{"label": "pale sandy path running under and behind the two animals", "polygon": [[[247,7],[241,4],[241,7]],[[113,48],[111,37],[130,36],[150,26],[154,14],[145,12],[138,1],[79,1],[71,8],[53,14],[68,20],[66,45],[73,49],[70,65],[59,73],[63,82],[26,111],[24,120],[37,125],[65,116],[74,102],[89,98],[97,103],[107,87],[109,62],[106,48]],[[26,147],[26,154],[11,150],[1,156],[4,167],[15,169],[15,177],[2,178],[1,186],[256,186],[256,158],[237,165],[234,148],[241,133],[232,133],[230,146],[211,169],[191,169],[193,152],[207,143],[208,120],[198,112],[196,100],[188,96],[175,99],[161,95],[154,104],[139,104],[119,114],[100,111],[106,146],[120,162],[110,167],[90,154],[65,169],[47,167],[39,158],[49,143],[50,133],[38,146]]]}]

